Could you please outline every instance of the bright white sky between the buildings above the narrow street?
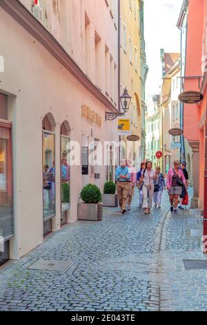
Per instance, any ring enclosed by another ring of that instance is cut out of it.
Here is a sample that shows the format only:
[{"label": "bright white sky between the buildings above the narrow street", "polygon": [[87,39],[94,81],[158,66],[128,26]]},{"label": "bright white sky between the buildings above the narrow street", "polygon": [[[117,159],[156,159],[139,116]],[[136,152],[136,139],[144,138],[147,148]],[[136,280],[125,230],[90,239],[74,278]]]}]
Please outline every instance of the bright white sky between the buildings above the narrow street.
[{"label": "bright white sky between the buildings above the narrow street", "polygon": [[161,85],[160,49],[180,52],[180,31],[177,20],[183,0],[144,0],[144,38],[149,66],[146,80],[148,95],[159,94]]}]

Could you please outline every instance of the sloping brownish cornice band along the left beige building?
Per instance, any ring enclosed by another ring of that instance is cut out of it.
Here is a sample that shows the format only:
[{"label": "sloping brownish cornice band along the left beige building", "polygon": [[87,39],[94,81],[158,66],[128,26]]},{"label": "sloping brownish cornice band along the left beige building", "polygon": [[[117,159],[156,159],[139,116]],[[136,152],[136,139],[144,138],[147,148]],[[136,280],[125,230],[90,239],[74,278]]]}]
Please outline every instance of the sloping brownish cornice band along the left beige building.
[{"label": "sloping brownish cornice band along the left beige building", "polygon": [[10,15],[19,25],[32,35],[48,52],[64,66],[80,84],[87,89],[106,109],[117,112],[115,106],[99,91],[88,77],[81,71],[81,68],[72,60],[70,55],[59,44],[57,39],[23,6],[18,0],[1,0],[0,6]]}]

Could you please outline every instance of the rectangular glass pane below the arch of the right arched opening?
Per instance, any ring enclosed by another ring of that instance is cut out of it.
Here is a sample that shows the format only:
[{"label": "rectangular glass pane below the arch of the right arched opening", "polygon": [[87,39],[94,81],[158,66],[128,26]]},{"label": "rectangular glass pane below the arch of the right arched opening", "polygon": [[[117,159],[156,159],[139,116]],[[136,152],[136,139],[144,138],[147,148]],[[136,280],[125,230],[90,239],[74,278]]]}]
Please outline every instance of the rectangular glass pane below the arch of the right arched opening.
[{"label": "rectangular glass pane below the arch of the right arched opening", "polygon": [[61,136],[61,225],[67,223],[70,209],[70,139]]}]

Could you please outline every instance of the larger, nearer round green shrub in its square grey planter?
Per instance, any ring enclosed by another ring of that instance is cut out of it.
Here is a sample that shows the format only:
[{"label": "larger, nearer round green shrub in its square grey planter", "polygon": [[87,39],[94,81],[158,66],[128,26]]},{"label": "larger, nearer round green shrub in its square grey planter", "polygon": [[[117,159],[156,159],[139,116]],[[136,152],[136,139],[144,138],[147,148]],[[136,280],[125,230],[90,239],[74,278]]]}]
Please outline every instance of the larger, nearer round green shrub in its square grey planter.
[{"label": "larger, nearer round green shrub in its square grey planter", "polygon": [[81,200],[83,203],[78,204],[78,220],[101,221],[102,206],[101,191],[99,187],[88,184],[81,191]]}]

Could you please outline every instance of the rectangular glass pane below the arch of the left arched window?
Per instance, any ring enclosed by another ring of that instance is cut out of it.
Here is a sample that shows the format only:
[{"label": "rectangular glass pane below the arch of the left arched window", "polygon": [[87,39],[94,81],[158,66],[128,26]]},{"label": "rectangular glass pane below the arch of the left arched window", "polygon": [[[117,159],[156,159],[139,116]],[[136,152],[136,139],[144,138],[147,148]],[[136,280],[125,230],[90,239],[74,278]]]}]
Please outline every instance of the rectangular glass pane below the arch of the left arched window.
[{"label": "rectangular glass pane below the arch of the left arched window", "polygon": [[43,217],[55,215],[55,136],[43,132]]}]

